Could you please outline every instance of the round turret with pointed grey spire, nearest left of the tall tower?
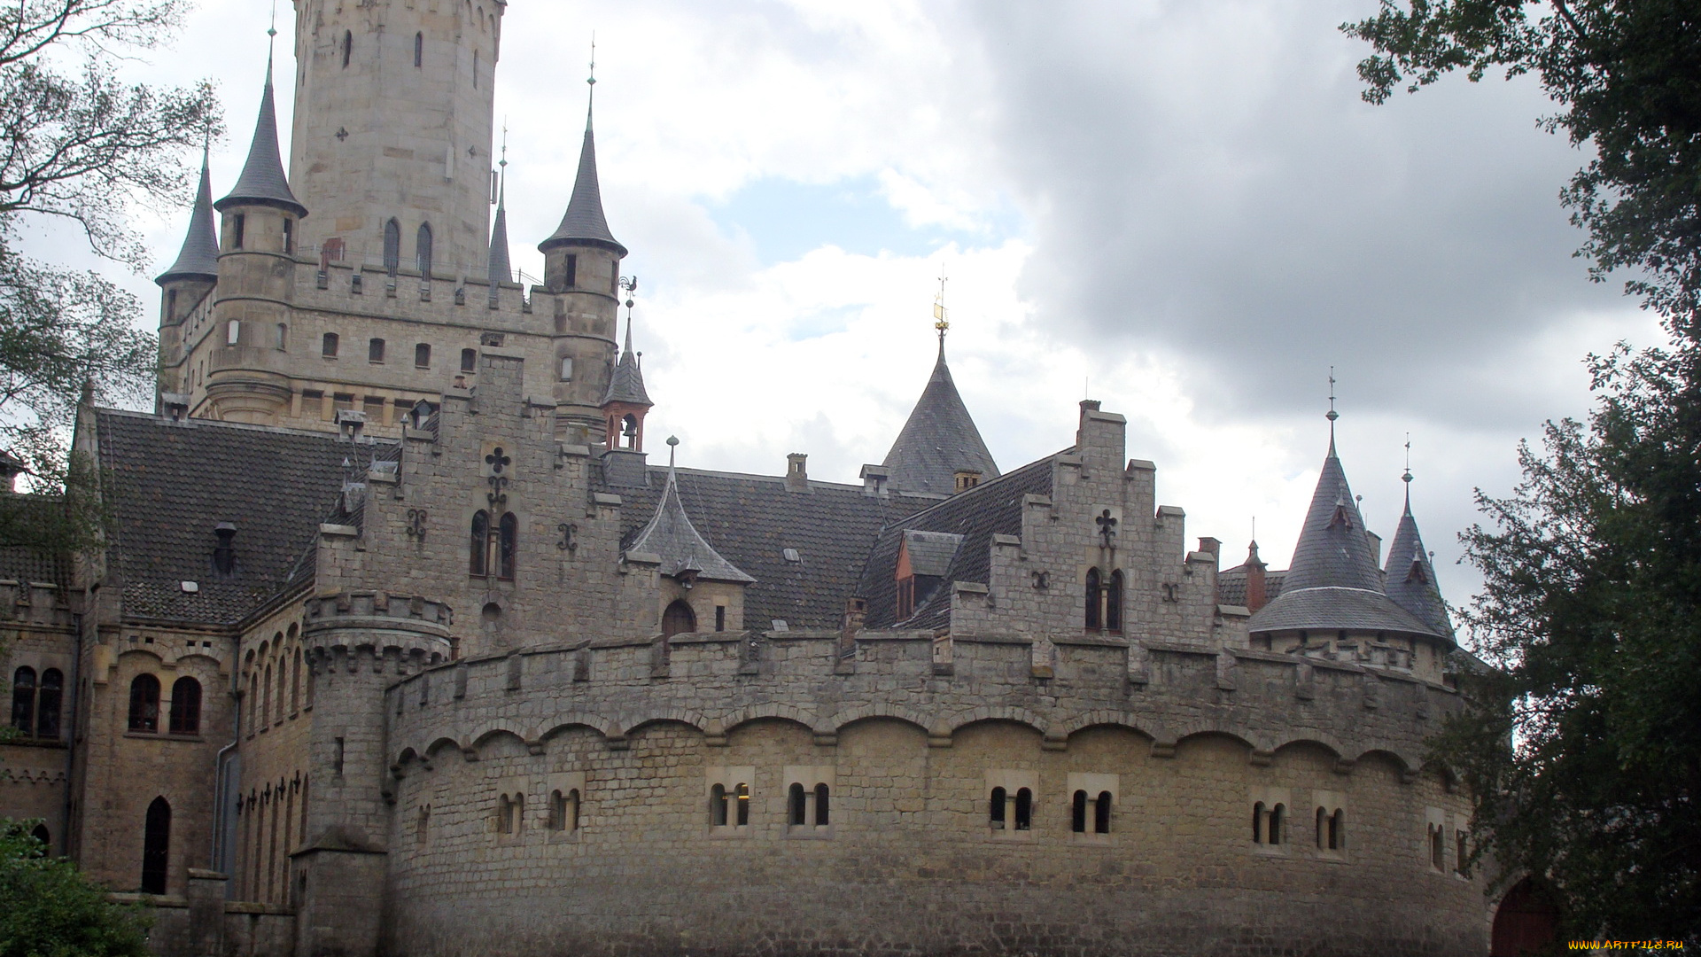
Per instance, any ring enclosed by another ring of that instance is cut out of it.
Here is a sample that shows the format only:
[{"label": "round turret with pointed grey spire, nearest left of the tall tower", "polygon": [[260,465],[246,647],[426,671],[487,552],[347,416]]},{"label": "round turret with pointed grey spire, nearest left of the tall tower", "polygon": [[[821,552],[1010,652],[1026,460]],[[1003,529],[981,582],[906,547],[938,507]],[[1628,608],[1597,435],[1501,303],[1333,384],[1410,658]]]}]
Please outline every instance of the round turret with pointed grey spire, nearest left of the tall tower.
[{"label": "round turret with pointed grey spire, nearest left of the tall tower", "polygon": [[289,380],[272,371],[272,352],[287,344],[296,237],[308,215],[289,189],[277,152],[270,58],[248,160],[236,186],[213,208],[223,215],[223,245],[219,298],[208,332],[213,349],[206,368],[206,414],[269,422],[289,405]]}]

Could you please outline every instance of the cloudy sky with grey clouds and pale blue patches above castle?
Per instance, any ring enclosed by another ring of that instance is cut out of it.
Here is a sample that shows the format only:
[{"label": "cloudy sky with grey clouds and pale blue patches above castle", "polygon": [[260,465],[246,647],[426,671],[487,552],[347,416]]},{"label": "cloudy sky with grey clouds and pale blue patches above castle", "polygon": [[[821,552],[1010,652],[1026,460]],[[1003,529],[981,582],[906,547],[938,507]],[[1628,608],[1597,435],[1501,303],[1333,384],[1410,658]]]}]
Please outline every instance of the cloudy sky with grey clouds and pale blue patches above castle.
[{"label": "cloudy sky with grey clouds and pale blue patches above castle", "polygon": [[[1335,27],[1374,7],[514,0],[497,111],[517,266],[543,272],[566,204],[595,31],[648,433],[677,434],[682,463],[779,473],[805,451],[811,477],[856,482],[927,378],[944,271],[951,368],[1000,467],[1070,444],[1090,395],[1128,415],[1189,535],[1233,564],[1255,516],[1284,567],[1334,366],[1366,519],[1393,533],[1410,433],[1414,506],[1463,603],[1471,490],[1507,492],[1519,438],[1587,409],[1585,352],[1655,327],[1572,257],[1556,194],[1584,157],[1538,129],[1533,83],[1359,100],[1364,48]],[[216,192],[247,148],[267,10],[202,0],[131,65],[218,82],[238,135]],[[185,216],[138,218],[162,267]]]}]

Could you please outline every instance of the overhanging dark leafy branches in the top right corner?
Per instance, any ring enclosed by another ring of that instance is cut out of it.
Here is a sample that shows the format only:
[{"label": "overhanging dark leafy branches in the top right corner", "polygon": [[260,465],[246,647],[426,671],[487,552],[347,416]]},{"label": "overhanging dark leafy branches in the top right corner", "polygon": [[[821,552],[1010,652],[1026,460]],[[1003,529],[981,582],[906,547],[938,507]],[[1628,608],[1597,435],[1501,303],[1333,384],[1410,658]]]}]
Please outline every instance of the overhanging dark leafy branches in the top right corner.
[{"label": "overhanging dark leafy branches in the top right corner", "polygon": [[1364,99],[1385,102],[1463,70],[1533,73],[1560,106],[1545,119],[1594,158],[1562,201],[1587,230],[1590,276],[1635,269],[1626,289],[1701,339],[1701,9],[1694,0],[1381,0],[1342,24],[1376,54]]}]

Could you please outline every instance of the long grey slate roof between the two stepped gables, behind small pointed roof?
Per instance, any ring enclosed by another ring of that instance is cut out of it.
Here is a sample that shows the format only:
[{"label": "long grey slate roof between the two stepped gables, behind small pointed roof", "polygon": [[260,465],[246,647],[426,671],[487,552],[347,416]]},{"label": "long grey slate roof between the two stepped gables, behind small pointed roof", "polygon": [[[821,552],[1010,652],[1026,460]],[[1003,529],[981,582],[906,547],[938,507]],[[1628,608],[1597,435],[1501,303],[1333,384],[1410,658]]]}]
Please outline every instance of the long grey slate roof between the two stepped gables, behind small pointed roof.
[{"label": "long grey slate roof between the two stepped gables, behind small pointed roof", "polygon": [[[905,514],[910,499],[878,499],[861,485],[810,482],[791,492],[779,475],[679,468],[677,494],[703,540],[755,581],[745,589],[745,623],[765,630],[839,628],[856,594],[862,562],[881,526]],[[648,487],[600,487],[621,496],[624,540],[650,523],[667,489],[667,467],[650,468]],[[786,559],[796,548],[798,560]]]}]

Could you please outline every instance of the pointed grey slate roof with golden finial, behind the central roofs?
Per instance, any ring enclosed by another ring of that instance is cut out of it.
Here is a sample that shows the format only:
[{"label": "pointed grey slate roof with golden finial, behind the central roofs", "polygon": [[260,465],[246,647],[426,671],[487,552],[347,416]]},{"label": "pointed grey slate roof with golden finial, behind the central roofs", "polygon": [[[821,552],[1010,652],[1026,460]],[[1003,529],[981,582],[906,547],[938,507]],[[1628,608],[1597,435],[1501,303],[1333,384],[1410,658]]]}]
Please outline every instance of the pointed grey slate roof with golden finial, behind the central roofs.
[{"label": "pointed grey slate roof with golden finial, behind the central roofs", "polygon": [[885,467],[891,473],[891,487],[907,492],[953,494],[958,472],[980,472],[981,480],[998,477],[998,465],[951,381],[944,342],[939,344],[934,375],[927,378],[927,388],[898,441],[891,443]]}]

